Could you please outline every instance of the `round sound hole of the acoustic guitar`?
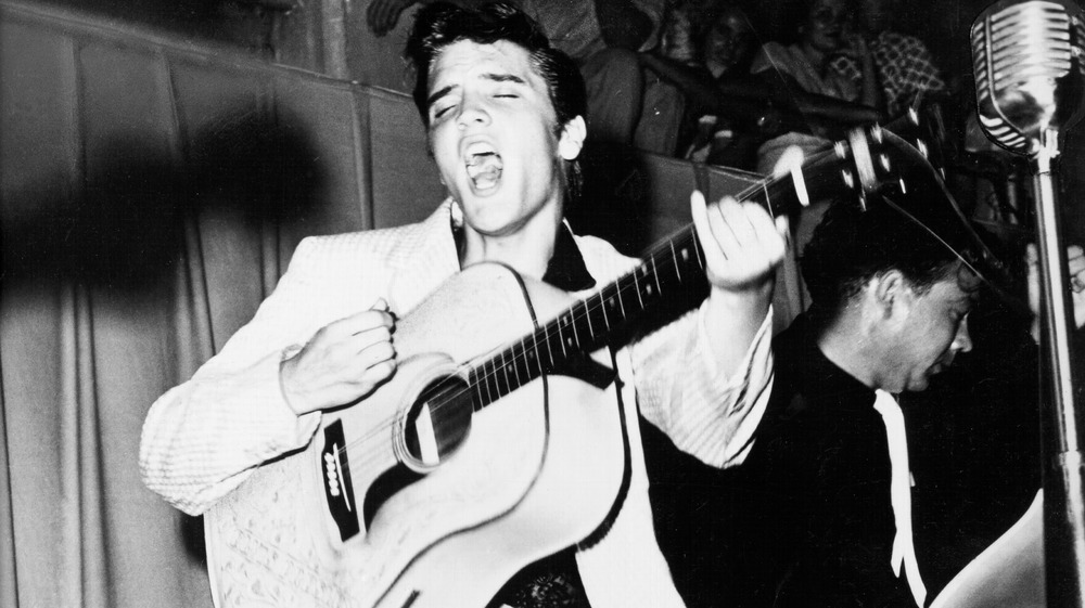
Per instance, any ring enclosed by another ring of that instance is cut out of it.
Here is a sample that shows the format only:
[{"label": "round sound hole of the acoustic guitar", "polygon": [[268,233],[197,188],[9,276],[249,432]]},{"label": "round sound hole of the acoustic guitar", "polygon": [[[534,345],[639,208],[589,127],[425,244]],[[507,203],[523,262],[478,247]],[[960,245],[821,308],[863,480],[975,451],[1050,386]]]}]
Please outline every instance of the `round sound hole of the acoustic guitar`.
[{"label": "round sound hole of the acoustic guitar", "polygon": [[460,378],[444,378],[426,387],[407,414],[407,454],[424,467],[439,465],[471,430],[473,405],[472,392]]}]

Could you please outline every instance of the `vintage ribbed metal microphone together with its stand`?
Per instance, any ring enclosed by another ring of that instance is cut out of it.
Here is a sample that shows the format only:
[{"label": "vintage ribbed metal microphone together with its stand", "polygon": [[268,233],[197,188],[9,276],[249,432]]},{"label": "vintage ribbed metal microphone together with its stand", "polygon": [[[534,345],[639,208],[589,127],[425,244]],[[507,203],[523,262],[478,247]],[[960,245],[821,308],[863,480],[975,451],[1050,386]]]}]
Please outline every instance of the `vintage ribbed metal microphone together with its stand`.
[{"label": "vintage ribbed metal microphone together with its stand", "polygon": [[1073,0],[1001,0],[972,24],[980,126],[1027,155],[1035,178],[1044,378],[1044,555],[1048,606],[1085,606],[1082,371],[1071,345],[1072,301],[1052,159],[1082,114],[1085,25]]}]

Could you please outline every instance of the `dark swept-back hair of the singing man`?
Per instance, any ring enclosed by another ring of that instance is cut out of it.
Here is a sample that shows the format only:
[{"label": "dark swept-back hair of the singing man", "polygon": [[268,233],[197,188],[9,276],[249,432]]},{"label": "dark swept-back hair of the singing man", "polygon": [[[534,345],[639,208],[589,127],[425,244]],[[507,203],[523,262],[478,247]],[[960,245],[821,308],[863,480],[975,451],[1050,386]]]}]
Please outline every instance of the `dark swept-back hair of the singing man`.
[{"label": "dark swept-back hair of the singing man", "polygon": [[[587,112],[587,93],[579,69],[569,55],[550,46],[534,20],[505,2],[488,3],[478,9],[435,2],[422,8],[416,15],[405,53],[414,69],[414,105],[426,129],[430,127],[430,108],[426,105],[430,70],[445,47],[461,40],[478,44],[505,40],[526,50],[532,68],[546,82],[557,116],[556,134],[560,134],[570,120]],[[566,179],[570,191],[576,193],[580,172],[575,160],[567,167]]]}]

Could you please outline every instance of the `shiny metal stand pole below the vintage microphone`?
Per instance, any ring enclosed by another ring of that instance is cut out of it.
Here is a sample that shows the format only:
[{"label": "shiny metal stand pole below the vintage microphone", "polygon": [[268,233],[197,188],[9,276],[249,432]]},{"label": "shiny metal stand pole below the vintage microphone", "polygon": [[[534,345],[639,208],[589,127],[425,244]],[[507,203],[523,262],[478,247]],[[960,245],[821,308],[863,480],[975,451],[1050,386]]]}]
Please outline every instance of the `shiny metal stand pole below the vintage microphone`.
[{"label": "shiny metal stand pole below the vintage microphone", "polygon": [[1047,605],[1085,607],[1085,458],[1077,401],[1081,368],[1073,349],[1073,302],[1051,161],[1058,129],[1039,135],[1035,211],[1041,277],[1041,426],[1044,440],[1044,555]]}]

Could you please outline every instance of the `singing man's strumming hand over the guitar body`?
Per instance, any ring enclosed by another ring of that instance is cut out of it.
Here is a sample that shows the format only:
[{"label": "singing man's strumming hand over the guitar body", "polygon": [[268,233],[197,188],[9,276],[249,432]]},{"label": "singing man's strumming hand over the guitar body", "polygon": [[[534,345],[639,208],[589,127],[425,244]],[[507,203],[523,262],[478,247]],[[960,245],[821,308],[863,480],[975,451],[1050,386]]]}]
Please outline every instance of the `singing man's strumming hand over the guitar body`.
[{"label": "singing man's strumming hand over the guitar body", "polygon": [[301,415],[367,397],[395,372],[394,328],[395,318],[383,299],[320,328],[280,367],[291,409]]}]

